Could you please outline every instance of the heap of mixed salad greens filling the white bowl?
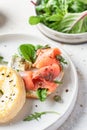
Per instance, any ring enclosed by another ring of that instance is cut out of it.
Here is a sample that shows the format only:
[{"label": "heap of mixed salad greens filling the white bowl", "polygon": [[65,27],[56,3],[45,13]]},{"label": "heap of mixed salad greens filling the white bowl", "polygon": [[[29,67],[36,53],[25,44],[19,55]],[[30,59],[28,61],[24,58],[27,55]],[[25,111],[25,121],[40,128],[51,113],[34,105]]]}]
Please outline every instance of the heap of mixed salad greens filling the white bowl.
[{"label": "heap of mixed salad greens filling the white bowl", "polygon": [[35,9],[31,25],[43,23],[63,33],[87,32],[87,0],[39,0]]}]

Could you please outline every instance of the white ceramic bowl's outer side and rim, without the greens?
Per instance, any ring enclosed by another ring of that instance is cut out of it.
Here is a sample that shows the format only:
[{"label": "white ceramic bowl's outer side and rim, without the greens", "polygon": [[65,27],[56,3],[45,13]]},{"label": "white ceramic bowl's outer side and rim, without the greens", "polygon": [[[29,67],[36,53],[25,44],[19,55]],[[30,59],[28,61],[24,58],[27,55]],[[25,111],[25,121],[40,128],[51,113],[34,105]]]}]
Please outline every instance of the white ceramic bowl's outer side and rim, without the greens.
[{"label": "white ceramic bowl's outer side and rim, without the greens", "polygon": [[79,34],[67,34],[52,30],[40,23],[37,25],[39,30],[47,37],[68,44],[80,44],[87,42],[87,32]]}]

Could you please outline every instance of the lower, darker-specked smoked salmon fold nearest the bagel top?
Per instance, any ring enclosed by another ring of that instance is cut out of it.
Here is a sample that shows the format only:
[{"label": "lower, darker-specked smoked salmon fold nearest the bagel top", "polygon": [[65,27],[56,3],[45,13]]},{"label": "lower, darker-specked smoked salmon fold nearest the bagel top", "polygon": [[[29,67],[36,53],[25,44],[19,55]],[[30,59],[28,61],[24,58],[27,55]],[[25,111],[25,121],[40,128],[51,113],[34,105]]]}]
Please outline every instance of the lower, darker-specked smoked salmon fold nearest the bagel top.
[{"label": "lower, darker-specked smoked salmon fold nearest the bagel top", "polygon": [[37,90],[38,88],[46,88],[49,92],[53,92],[58,86],[54,83],[54,79],[60,74],[60,66],[53,64],[36,71],[25,71],[22,77],[25,82],[26,90]]}]

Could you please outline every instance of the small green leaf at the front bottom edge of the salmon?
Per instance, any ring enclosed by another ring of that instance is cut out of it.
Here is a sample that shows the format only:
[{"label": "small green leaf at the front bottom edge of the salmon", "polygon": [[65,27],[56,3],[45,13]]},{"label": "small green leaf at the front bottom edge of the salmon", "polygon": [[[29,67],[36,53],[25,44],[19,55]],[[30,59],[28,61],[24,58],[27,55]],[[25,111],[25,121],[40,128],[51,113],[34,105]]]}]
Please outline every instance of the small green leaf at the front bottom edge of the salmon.
[{"label": "small green leaf at the front bottom edge of the salmon", "polygon": [[37,90],[37,95],[38,95],[38,98],[40,99],[40,101],[45,101],[46,98],[47,98],[47,92],[48,92],[48,89],[46,88],[39,88]]}]

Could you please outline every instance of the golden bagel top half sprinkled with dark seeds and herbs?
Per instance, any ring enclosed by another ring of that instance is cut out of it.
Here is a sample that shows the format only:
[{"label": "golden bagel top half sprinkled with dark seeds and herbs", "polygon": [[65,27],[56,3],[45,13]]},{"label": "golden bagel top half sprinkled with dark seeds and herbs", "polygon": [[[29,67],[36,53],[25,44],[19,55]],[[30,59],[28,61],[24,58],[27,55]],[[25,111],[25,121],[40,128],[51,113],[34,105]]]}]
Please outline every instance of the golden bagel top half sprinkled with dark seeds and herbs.
[{"label": "golden bagel top half sprinkled with dark seeds and herbs", "polygon": [[14,118],[25,103],[24,82],[13,69],[0,66],[0,123]]}]

